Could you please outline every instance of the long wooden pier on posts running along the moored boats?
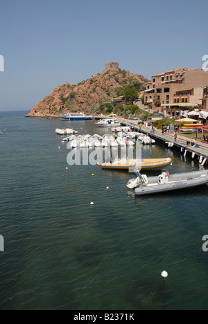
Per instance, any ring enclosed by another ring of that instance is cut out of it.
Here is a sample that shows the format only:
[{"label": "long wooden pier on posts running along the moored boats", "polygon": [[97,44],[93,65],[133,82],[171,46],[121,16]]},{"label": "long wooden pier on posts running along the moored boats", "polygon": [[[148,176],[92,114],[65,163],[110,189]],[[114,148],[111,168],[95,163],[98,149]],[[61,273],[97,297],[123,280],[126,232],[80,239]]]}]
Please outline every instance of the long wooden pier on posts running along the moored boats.
[{"label": "long wooden pier on posts running along the moored boats", "polygon": [[[173,133],[162,134],[162,131],[160,129],[155,129],[155,133],[153,133],[150,131],[150,127],[138,125],[137,121],[125,120],[123,118],[118,118],[118,120],[122,125],[130,126],[135,129],[135,131],[140,131],[141,129],[142,133],[150,136],[151,138],[154,138],[155,141],[163,143],[173,150],[177,150],[177,152],[181,152],[182,154],[184,154],[184,156],[190,156],[192,159],[198,159],[200,164],[202,165],[205,165],[205,163],[208,162],[208,143],[196,141],[196,144],[199,147],[192,147],[188,144],[191,142],[191,140],[189,140],[189,138],[187,137],[182,136],[181,134],[177,134],[177,141],[175,141]],[[168,145],[168,143],[171,144]]]}]

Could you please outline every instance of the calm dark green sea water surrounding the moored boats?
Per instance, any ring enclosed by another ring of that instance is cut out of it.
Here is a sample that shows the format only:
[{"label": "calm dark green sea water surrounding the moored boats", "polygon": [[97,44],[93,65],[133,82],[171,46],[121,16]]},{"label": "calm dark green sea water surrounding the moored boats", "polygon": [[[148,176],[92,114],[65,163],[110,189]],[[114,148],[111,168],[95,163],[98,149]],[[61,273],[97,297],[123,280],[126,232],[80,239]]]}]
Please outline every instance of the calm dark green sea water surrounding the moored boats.
[{"label": "calm dark green sea water surrounding the moored boats", "polygon": [[[67,165],[55,129],[94,122],[23,115],[0,112],[0,309],[208,309],[208,187],[135,197],[132,174]],[[143,153],[199,168],[163,145]]]}]

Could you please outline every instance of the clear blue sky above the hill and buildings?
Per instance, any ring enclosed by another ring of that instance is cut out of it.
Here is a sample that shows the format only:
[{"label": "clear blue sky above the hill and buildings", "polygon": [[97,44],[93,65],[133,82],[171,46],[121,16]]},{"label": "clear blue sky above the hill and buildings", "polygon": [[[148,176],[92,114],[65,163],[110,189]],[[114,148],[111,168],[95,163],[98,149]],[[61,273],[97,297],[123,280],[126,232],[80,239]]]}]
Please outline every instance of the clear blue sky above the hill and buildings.
[{"label": "clear blue sky above the hill and buildings", "polygon": [[55,87],[104,70],[150,78],[208,54],[208,1],[7,0],[0,3],[0,110],[30,110]]}]

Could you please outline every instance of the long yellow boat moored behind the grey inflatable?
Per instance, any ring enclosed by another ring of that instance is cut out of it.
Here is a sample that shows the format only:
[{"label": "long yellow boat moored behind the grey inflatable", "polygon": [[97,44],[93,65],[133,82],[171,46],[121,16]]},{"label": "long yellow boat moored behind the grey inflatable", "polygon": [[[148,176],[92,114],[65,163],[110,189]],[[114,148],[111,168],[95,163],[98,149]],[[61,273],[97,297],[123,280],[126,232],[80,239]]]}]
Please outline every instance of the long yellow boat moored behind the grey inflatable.
[{"label": "long yellow boat moored behind the grey inflatable", "polygon": [[128,170],[130,168],[141,168],[142,170],[152,170],[164,168],[170,165],[172,160],[167,159],[116,159],[112,163],[103,163],[103,169]]}]

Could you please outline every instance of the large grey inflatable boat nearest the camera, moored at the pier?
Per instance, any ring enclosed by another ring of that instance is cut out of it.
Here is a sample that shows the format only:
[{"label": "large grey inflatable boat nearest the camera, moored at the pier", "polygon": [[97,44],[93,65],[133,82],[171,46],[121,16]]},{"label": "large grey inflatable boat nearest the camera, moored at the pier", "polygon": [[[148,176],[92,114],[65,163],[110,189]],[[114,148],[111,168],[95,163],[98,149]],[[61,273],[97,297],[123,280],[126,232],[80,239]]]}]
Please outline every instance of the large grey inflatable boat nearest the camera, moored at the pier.
[{"label": "large grey inflatable boat nearest the camera, moored at the pier", "polygon": [[159,192],[194,188],[208,183],[208,170],[169,174],[162,172],[159,177],[146,177],[136,172],[137,178],[128,181],[127,187],[135,189],[136,195],[152,195]]}]

